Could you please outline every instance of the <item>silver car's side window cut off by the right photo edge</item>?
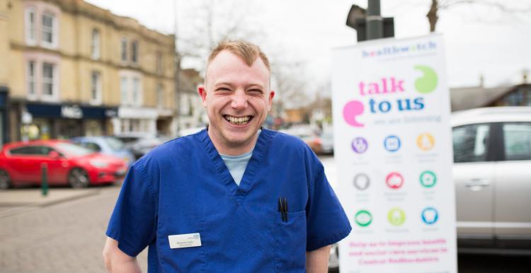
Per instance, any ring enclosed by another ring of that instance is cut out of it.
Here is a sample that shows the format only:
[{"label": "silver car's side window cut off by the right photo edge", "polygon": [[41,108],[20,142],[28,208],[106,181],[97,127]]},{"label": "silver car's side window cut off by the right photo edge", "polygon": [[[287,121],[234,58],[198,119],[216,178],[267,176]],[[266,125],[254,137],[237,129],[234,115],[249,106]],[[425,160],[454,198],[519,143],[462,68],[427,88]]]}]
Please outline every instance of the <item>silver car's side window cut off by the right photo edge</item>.
[{"label": "silver car's side window cut off by the right photo edge", "polygon": [[503,124],[506,161],[531,160],[531,122]]}]

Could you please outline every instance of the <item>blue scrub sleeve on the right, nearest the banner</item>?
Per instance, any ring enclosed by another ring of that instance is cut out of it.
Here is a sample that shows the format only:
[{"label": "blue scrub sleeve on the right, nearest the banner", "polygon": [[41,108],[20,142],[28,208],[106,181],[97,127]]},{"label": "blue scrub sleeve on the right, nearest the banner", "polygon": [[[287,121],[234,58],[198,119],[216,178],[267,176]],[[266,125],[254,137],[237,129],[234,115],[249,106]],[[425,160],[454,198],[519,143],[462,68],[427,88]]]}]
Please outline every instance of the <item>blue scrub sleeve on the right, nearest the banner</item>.
[{"label": "blue scrub sleeve on the right, nearest the banner", "polygon": [[337,243],[348,236],[352,228],[336,193],[326,180],[323,165],[319,164],[309,185],[306,250],[312,251]]}]

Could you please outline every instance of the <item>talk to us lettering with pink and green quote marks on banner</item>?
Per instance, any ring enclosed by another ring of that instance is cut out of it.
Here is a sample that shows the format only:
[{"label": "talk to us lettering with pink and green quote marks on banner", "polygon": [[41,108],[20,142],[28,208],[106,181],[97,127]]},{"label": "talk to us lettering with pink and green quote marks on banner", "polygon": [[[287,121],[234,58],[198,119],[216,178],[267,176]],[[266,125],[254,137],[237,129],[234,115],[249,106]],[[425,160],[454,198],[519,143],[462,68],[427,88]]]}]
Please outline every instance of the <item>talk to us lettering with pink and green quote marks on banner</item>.
[{"label": "talk to us lettering with pink and green quote marks on banner", "polygon": [[[414,81],[417,93],[426,95],[435,91],[438,86],[438,75],[430,66],[416,65],[413,69],[420,71],[422,76]],[[362,97],[370,97],[368,105],[360,100],[351,100],[343,107],[343,119],[353,127],[363,127],[358,117],[370,112],[370,114],[388,113],[392,111],[419,111],[425,108],[422,96],[397,98],[395,101],[387,100],[385,95],[406,93],[404,79],[396,79],[395,76],[384,77],[380,81],[358,83],[358,91]],[[384,97],[375,99],[374,97]]]}]

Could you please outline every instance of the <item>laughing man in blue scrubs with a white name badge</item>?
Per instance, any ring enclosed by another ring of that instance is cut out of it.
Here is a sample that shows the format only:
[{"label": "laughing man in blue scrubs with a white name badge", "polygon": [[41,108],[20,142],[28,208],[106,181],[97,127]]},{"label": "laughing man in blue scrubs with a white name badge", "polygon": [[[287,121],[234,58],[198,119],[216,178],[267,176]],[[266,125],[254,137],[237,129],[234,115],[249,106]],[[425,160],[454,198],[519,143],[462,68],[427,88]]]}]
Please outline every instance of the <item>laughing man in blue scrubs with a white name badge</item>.
[{"label": "laughing man in blue scrubs with a white name badge", "polygon": [[109,272],[327,272],[350,224],[319,159],[261,129],[275,95],[249,42],[222,42],[199,95],[209,126],[163,144],[125,178],[103,250]]}]

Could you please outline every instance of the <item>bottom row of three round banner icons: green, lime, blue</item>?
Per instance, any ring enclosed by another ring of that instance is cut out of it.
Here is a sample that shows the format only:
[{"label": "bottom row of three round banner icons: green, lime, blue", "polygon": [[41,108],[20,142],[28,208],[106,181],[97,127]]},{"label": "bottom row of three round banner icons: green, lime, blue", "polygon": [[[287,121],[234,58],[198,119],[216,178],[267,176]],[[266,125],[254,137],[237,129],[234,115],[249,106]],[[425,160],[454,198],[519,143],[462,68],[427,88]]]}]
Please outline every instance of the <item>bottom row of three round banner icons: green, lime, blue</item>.
[{"label": "bottom row of three round banner icons: green, lime, blue", "polygon": [[[372,223],[372,214],[366,209],[360,209],[354,215],[354,221],[358,226],[370,226]],[[426,225],[433,225],[439,220],[439,212],[433,207],[426,207],[421,211],[421,220]],[[406,223],[406,211],[395,207],[387,211],[387,221],[392,226],[402,226]]]}]

